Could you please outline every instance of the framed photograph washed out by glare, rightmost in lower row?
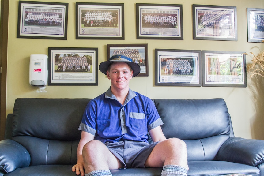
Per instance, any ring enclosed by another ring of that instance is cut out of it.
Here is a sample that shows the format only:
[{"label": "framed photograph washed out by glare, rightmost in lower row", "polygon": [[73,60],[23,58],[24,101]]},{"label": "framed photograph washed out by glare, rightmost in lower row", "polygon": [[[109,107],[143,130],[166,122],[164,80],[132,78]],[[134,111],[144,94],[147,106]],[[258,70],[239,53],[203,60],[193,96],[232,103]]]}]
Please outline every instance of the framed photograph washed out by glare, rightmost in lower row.
[{"label": "framed photograph washed out by glare, rightmost in lower row", "polygon": [[202,51],[203,86],[247,87],[246,55],[238,51]]}]

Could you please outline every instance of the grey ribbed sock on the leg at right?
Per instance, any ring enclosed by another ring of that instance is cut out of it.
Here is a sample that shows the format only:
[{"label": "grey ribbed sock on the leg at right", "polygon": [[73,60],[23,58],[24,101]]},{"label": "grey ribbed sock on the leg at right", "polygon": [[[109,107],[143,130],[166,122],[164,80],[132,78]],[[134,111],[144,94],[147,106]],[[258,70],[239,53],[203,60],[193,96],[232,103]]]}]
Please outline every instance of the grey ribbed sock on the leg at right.
[{"label": "grey ribbed sock on the leg at right", "polygon": [[161,176],[187,176],[188,170],[182,166],[165,165],[163,166]]}]

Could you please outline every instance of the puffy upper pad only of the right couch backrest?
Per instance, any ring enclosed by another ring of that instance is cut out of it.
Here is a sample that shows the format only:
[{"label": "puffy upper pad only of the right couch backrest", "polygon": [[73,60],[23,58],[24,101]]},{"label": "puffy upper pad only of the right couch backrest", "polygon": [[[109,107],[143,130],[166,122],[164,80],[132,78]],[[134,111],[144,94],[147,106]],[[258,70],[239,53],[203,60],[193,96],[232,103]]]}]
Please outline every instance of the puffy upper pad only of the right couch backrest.
[{"label": "puffy upper pad only of the right couch backrest", "polygon": [[230,133],[223,99],[154,99],[154,103],[167,138],[195,140]]}]

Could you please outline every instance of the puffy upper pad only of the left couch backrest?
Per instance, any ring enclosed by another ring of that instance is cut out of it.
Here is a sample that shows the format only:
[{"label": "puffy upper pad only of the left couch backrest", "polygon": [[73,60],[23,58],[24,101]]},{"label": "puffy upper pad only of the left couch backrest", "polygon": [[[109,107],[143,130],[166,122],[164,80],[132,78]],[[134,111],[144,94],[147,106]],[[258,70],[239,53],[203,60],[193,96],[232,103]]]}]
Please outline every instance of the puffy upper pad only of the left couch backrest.
[{"label": "puffy upper pad only of the left couch backrest", "polygon": [[90,100],[18,98],[13,109],[13,136],[79,140],[78,127]]}]

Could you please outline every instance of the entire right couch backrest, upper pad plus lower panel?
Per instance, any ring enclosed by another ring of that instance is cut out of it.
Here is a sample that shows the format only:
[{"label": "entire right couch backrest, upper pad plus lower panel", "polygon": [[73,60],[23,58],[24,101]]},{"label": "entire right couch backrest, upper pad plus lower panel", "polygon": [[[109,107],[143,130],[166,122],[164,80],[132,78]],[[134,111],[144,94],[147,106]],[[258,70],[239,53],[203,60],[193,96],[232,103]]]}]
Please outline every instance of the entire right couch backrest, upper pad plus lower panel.
[{"label": "entire right couch backrest, upper pad plus lower panel", "polygon": [[187,144],[188,161],[213,160],[232,136],[232,123],[224,99],[153,99],[164,122],[166,138]]}]

